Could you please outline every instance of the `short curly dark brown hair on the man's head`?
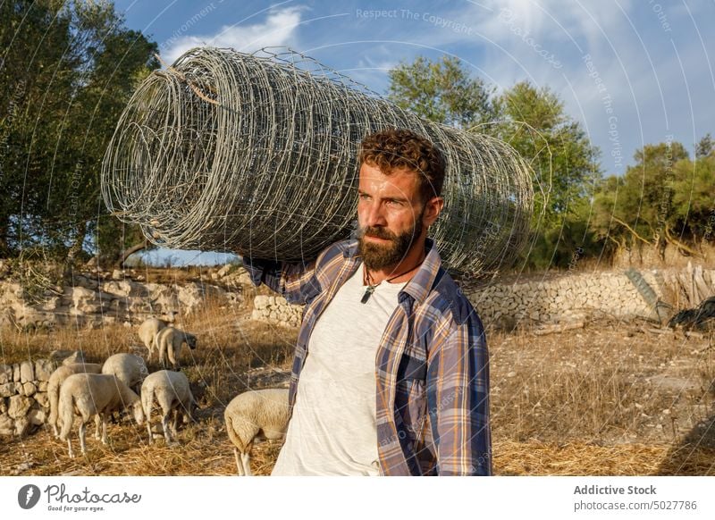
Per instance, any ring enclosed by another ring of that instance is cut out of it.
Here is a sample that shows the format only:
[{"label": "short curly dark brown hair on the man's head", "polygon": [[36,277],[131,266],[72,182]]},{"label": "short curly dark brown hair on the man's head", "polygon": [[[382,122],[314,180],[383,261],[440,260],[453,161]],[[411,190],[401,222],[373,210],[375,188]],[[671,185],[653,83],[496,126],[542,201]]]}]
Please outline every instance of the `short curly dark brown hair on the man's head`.
[{"label": "short curly dark brown hair on the man's head", "polygon": [[395,170],[416,172],[424,202],[442,194],[444,155],[431,141],[411,130],[389,129],[368,135],[360,144],[358,159],[360,164],[376,166],[385,175]]}]

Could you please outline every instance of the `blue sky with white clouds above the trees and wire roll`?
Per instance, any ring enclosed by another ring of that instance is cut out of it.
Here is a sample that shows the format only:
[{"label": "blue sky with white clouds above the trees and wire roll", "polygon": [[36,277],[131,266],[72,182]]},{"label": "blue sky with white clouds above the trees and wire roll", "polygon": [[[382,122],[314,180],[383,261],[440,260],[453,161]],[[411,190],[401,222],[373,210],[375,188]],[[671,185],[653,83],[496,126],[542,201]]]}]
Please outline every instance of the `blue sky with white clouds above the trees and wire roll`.
[{"label": "blue sky with white clouds above the trees and wire roll", "polygon": [[167,63],[192,46],[290,46],[385,93],[417,55],[457,56],[498,90],[548,86],[623,173],[644,144],[715,134],[715,2],[118,0]]}]

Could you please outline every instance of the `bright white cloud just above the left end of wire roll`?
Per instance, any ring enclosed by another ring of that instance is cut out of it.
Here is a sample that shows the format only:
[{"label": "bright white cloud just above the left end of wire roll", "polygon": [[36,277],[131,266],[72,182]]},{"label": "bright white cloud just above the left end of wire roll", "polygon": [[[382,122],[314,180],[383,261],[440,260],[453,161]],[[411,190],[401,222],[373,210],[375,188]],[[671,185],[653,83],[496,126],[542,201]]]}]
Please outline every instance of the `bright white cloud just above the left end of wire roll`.
[{"label": "bright white cloud just above the left end of wire roll", "polygon": [[265,22],[254,25],[224,25],[210,35],[181,35],[172,37],[162,47],[162,58],[173,63],[176,58],[197,46],[231,47],[237,51],[253,52],[264,46],[294,46],[296,29],[304,8],[272,9]]}]

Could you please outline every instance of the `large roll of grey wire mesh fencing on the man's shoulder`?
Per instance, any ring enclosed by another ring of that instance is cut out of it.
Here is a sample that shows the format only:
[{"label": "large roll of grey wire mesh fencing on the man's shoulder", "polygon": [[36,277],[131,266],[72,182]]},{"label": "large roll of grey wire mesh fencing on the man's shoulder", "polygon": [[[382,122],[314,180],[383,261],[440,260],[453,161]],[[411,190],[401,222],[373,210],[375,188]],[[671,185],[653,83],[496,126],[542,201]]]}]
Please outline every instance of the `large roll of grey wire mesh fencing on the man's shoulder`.
[{"label": "large roll of grey wire mesh fencing on the man's shoulder", "polygon": [[428,122],[307,56],[195,48],[143,81],[102,169],[107,207],[157,246],[305,260],[356,227],[357,152],[407,128],[446,155],[430,230],[456,273],[524,246],[531,170],[506,143]]}]

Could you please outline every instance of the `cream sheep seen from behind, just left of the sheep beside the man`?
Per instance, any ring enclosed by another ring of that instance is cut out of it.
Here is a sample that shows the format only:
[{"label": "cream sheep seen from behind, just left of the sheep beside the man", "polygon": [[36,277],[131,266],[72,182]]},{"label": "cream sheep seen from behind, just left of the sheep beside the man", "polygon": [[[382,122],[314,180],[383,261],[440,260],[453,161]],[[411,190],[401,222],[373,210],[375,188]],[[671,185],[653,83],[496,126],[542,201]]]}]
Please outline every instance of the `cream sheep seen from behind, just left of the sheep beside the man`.
[{"label": "cream sheep seen from behind, just left of the sheep beside the man", "polygon": [[[141,385],[141,406],[147,418],[147,430],[149,432],[149,443],[152,442],[151,432],[151,410],[154,398],[162,408],[162,427],[164,428],[164,440],[167,444],[173,444],[173,437],[176,437],[176,428],[179,423],[179,415],[189,420],[193,420],[193,412],[198,407],[191,389],[189,379],[181,372],[170,370],[160,370],[147,375],[147,379]],[[173,424],[169,426],[169,416],[173,412]]]}]

